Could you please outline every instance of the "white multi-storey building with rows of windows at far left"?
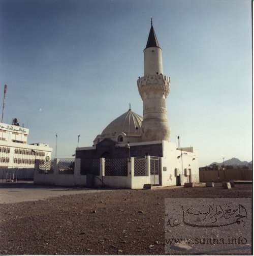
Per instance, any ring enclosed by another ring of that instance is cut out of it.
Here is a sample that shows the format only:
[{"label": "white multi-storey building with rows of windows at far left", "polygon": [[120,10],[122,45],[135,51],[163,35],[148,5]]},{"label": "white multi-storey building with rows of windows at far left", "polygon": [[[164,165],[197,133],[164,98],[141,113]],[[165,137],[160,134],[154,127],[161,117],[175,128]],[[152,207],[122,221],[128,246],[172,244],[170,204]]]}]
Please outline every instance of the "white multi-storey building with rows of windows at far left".
[{"label": "white multi-storey building with rows of windows at far left", "polygon": [[51,158],[49,145],[27,144],[29,129],[0,123],[0,168],[34,168],[35,160]]}]

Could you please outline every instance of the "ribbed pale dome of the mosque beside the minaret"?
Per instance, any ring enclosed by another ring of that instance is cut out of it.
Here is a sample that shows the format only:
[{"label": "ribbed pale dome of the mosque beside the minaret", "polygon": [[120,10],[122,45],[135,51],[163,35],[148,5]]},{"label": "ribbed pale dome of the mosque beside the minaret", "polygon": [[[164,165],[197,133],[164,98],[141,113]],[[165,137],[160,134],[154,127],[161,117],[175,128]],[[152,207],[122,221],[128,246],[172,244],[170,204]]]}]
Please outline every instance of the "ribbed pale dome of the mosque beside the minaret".
[{"label": "ribbed pale dome of the mosque beside the minaret", "polygon": [[131,110],[113,120],[103,131],[97,135],[93,144],[96,145],[105,138],[110,138],[118,143],[140,142],[141,124],[143,117]]}]

